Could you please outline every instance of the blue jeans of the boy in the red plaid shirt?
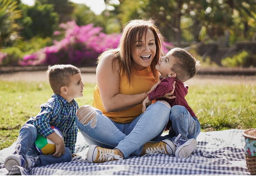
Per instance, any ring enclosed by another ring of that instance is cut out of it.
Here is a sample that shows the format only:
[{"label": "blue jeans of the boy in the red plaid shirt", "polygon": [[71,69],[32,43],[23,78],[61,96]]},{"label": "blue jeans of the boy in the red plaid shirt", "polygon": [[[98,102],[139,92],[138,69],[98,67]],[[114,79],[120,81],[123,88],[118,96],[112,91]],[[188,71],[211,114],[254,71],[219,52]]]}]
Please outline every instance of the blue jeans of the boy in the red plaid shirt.
[{"label": "blue jeans of the boy in the red plaid shirt", "polygon": [[171,108],[170,120],[172,121],[172,125],[168,135],[160,136],[157,138],[158,141],[164,139],[172,140],[172,138],[176,138],[179,133],[181,134],[181,138],[196,139],[201,131],[198,119],[192,117],[184,106],[173,106]]}]

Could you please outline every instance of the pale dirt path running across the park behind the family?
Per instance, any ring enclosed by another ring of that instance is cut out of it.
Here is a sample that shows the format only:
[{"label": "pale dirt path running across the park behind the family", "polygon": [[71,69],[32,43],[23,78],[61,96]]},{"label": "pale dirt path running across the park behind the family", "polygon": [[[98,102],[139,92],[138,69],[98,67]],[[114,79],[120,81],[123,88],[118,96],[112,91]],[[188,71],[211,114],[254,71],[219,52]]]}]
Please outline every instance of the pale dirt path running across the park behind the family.
[{"label": "pale dirt path running across the park behind the family", "polygon": [[[96,83],[95,73],[81,73],[84,83]],[[39,81],[48,82],[45,71],[14,72],[11,74],[1,74],[2,81]],[[256,76],[225,76],[225,75],[202,75],[198,74],[194,78],[186,81],[188,85],[198,84],[256,84]]]}]

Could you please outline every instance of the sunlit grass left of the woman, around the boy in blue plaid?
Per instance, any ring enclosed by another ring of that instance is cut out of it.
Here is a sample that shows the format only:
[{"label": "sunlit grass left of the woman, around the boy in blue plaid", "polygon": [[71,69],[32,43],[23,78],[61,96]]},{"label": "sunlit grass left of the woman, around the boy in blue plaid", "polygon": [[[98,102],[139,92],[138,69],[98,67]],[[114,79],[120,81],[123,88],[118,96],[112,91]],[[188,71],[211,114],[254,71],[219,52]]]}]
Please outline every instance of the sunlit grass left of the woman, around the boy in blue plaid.
[{"label": "sunlit grass left of the woman, around the boy in blue plaid", "polygon": [[[95,84],[85,83],[79,106],[92,105]],[[20,127],[51,98],[49,83],[0,81],[0,150],[16,141]]]}]

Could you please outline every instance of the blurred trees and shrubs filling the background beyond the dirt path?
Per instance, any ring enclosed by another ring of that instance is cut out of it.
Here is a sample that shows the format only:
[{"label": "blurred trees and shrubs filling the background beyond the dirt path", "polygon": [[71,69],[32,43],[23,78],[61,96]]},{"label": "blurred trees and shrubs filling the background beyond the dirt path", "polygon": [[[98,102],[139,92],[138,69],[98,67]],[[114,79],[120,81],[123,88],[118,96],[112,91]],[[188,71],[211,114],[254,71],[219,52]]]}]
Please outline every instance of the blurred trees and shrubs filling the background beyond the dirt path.
[{"label": "blurred trees and shrubs filling the background beyond the dirt path", "polygon": [[96,66],[138,18],[156,21],[166,51],[185,48],[203,66],[256,66],[255,0],[87,0],[100,11],[74,3],[84,0],[22,1],[0,0],[0,66]]}]

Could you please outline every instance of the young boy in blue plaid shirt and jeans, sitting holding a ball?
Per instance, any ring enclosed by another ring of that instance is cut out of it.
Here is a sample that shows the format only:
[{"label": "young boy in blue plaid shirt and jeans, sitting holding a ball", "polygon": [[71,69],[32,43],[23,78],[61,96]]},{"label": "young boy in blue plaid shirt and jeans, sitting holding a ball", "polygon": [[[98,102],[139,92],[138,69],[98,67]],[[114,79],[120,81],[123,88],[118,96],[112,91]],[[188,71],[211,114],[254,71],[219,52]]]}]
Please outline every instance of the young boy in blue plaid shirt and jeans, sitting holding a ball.
[{"label": "young boy in blue plaid shirt and jeans, sitting holding a ball", "polygon": [[[75,156],[75,143],[78,128],[75,123],[78,104],[74,98],[83,96],[81,72],[72,65],[49,66],[47,70],[50,86],[54,92],[52,97],[41,105],[41,111],[29,118],[20,129],[15,152],[9,155],[4,167],[11,170],[12,166],[31,168],[70,162]],[[63,139],[55,133],[51,126],[57,127]],[[39,153],[35,146],[37,134],[55,143],[53,154]]]}]

